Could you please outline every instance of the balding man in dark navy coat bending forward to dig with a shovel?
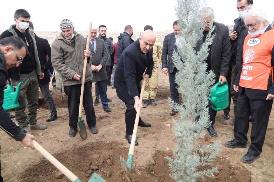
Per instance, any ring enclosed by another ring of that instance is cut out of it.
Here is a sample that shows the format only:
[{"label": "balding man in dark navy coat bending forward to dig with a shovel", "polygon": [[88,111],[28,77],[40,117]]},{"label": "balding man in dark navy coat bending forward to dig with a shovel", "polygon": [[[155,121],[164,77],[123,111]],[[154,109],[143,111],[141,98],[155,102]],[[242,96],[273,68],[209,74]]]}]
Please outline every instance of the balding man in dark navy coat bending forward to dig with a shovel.
[{"label": "balding man in dark navy coat bending forward to dig with a shovel", "polygon": [[[153,61],[153,45],[156,40],[155,34],[146,30],[141,37],[129,45],[120,57],[114,77],[116,93],[119,99],[125,102],[127,107],[125,112],[126,135],[128,143],[131,143],[132,132],[138,106],[142,108],[139,96],[141,93],[140,83],[143,78],[148,80],[151,77]],[[146,73],[143,76],[143,72]],[[150,127],[139,118],[138,126]],[[137,140],[135,146],[138,145]]]}]

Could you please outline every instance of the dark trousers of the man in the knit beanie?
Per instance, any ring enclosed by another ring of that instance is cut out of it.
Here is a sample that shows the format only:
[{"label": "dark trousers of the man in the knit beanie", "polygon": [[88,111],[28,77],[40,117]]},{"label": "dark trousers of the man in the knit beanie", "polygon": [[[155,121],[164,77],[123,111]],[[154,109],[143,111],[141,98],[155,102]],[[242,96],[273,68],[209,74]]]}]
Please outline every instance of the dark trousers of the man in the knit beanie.
[{"label": "dark trousers of the man in the knit beanie", "polygon": [[[68,96],[69,126],[77,128],[81,85],[64,86],[65,94]],[[96,125],[95,111],[91,93],[91,83],[86,82],[84,86],[83,106],[86,111],[86,123],[89,127]]]}]

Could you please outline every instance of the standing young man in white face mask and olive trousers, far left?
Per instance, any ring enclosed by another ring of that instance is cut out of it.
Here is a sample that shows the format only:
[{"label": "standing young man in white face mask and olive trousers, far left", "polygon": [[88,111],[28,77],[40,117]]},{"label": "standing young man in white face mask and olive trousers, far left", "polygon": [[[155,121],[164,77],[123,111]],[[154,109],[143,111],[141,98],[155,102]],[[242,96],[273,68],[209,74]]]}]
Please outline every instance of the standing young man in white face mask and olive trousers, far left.
[{"label": "standing young man in white face mask and olive trousers, far left", "polygon": [[[27,122],[30,124],[30,129],[44,130],[46,125],[37,122],[37,107],[38,107],[38,79],[44,78],[43,65],[40,63],[36,42],[33,31],[28,29],[30,22],[30,14],[24,9],[17,9],[14,13],[15,25],[4,31],[0,35],[0,40],[5,37],[19,37],[26,43],[28,48],[26,57],[19,67],[9,69],[9,77],[11,85],[17,86],[20,81],[23,82],[19,92],[19,107],[15,109],[15,119],[18,125],[26,132],[31,134]],[[27,99],[28,115],[26,115]]]}]

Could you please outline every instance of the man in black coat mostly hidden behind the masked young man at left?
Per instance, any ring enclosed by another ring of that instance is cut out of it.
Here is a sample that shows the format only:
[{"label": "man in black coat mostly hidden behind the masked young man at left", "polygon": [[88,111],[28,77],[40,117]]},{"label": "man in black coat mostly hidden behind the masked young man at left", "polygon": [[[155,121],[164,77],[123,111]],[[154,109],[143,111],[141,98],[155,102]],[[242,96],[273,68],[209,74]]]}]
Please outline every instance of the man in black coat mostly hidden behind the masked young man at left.
[{"label": "man in black coat mostly hidden behind the masked young man at left", "polygon": [[[32,22],[30,22],[29,24],[29,29],[33,30]],[[51,68],[52,64],[51,64],[51,59],[48,59],[47,61],[47,56],[49,58],[51,57],[51,46],[49,45],[46,39],[42,39],[38,37],[36,34],[34,34],[34,37],[35,37],[38,53],[40,54],[40,60],[44,66],[44,75],[45,75],[43,79],[38,80],[38,85],[41,89],[41,92],[44,98],[46,99],[50,107],[51,115],[46,119],[47,122],[50,122],[58,118],[55,103],[49,90],[50,76],[49,76],[48,70]]]}]

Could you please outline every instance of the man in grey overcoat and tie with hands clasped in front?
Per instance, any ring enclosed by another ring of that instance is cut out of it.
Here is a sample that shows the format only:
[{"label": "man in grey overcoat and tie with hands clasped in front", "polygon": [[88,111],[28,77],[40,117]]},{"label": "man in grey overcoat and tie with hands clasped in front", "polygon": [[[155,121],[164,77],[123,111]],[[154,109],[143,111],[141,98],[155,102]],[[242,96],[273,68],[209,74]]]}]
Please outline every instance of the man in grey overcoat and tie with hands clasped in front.
[{"label": "man in grey overcoat and tie with hands clasped in front", "polygon": [[[90,61],[90,69],[92,71],[92,79],[91,82],[96,82],[99,95],[102,101],[102,105],[104,111],[107,113],[111,112],[111,109],[108,107],[107,100],[107,88],[106,88],[106,80],[107,80],[107,70],[106,70],[106,62],[108,59],[108,52],[105,46],[104,40],[97,38],[97,27],[91,28],[90,35],[90,45],[89,49],[92,55]],[[87,39],[87,38],[86,38]]]}]

